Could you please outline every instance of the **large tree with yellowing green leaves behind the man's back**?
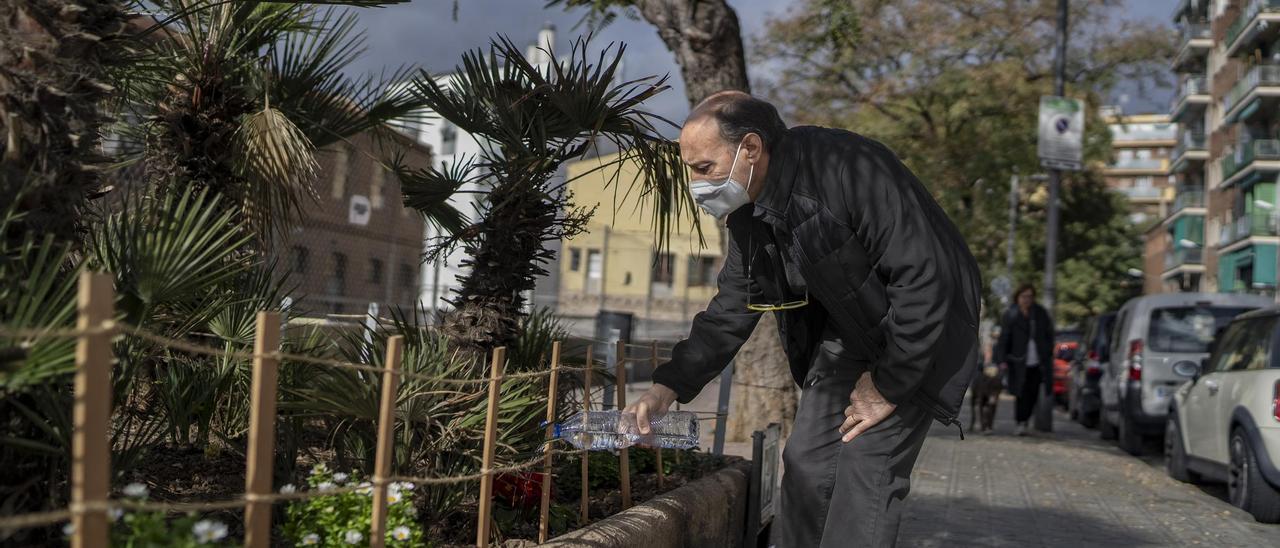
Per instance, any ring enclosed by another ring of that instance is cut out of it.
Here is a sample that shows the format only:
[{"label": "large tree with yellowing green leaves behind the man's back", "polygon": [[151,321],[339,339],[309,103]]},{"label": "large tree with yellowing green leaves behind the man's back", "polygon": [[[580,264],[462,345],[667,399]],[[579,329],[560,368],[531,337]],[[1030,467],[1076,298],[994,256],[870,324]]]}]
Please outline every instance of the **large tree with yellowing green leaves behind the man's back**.
[{"label": "large tree with yellowing green leaves behind the man's back", "polygon": [[[851,128],[897,151],[960,225],[989,279],[1004,271],[1007,181],[1014,173],[1028,175],[1041,169],[1036,124],[1039,97],[1052,95],[1055,5],[1048,0],[858,0],[838,5],[808,0],[768,23],[759,54],[777,67],[767,87],[787,105],[794,120]],[[1071,3],[1066,92],[1089,106],[1100,105],[1120,81],[1162,82],[1172,52],[1174,37],[1167,29],[1123,22],[1119,9],[1120,4],[1110,0]],[[858,32],[832,36],[824,22],[837,17],[859,20]],[[1085,188],[1082,196],[1108,202],[1105,188],[1097,189],[1096,172],[1110,155],[1106,123],[1092,114],[1085,129],[1088,170],[1068,174],[1065,193]],[[1078,256],[1082,248],[1066,245],[1079,237],[1075,230],[1123,230],[1093,241],[1101,246],[1134,236],[1111,218],[1073,223],[1073,198],[1064,196],[1064,202],[1062,298],[1056,312],[1070,321],[1078,311],[1120,303],[1116,294],[1094,294],[1074,284],[1125,286],[1124,271],[1140,266],[1140,254],[1126,255],[1133,247],[1098,251],[1116,264],[1097,265],[1094,278],[1070,274],[1065,265],[1083,260]],[[1123,207],[1102,209],[1112,215],[1124,213]],[[1024,224],[1019,238],[1027,247],[1025,242],[1043,239],[1043,230]],[[1042,255],[1020,254],[1018,271],[1038,271],[1042,262],[1025,262],[1037,257]],[[1101,301],[1085,303],[1082,298]],[[998,306],[988,306],[988,314],[998,311]]]}]

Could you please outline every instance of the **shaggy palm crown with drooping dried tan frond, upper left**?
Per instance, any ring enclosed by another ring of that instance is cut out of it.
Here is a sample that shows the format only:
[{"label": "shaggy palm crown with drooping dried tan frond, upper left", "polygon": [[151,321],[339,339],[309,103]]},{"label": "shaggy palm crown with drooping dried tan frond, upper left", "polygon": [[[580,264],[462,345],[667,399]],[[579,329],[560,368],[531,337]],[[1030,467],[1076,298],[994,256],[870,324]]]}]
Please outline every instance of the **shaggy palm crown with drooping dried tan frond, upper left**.
[{"label": "shaggy palm crown with drooping dried tan frond, upper left", "polygon": [[380,77],[343,73],[364,51],[356,14],[317,5],[399,1],[145,3],[156,15],[115,72],[114,106],[127,123],[114,129],[141,145],[123,163],[140,161],[154,188],[223,196],[265,242],[314,197],[317,149],[362,132],[387,137],[392,120],[421,110],[411,92],[389,86],[411,76],[410,67]]}]

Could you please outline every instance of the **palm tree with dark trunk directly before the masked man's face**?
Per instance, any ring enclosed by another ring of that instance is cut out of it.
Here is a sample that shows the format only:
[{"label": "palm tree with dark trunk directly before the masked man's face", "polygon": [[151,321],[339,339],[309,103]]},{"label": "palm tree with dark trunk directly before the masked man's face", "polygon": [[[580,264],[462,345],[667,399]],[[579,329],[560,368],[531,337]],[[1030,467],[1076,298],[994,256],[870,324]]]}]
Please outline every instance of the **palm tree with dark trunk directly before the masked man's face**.
[{"label": "palm tree with dark trunk directly before the masked man's face", "polygon": [[[563,192],[568,182],[553,183],[553,177],[562,164],[596,145],[621,151],[599,168],[613,169],[608,184],[622,183],[623,165],[640,168],[625,196],[653,207],[662,245],[678,223],[677,213],[689,213],[686,218],[696,223],[678,150],[655,127],[671,123],[641,109],[667,90],[667,78],[620,83],[623,51],[625,46],[611,45],[591,59],[586,40],[579,40],[564,60],[535,67],[520,47],[498,38],[488,52],[466,54],[448,85],[425,74],[419,78],[419,97],[475,136],[483,149],[479,157],[443,170],[398,169],[406,205],[453,230],[431,252],[439,256],[453,246],[466,251],[462,266],[470,271],[444,318],[445,333],[457,342],[485,350],[515,339],[524,292],[556,259],[547,243],[581,233],[594,213],[576,206]],[[480,183],[485,196],[480,219],[463,225],[445,200],[467,183]]]}]

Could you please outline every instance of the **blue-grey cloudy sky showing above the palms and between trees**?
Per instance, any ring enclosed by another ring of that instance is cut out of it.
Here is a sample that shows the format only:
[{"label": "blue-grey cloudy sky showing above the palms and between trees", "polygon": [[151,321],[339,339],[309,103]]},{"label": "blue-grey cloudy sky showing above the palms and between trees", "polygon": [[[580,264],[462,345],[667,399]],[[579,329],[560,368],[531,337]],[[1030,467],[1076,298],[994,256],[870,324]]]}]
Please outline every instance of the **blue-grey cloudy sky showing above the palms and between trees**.
[{"label": "blue-grey cloudy sky showing above the palms and between trees", "polygon": [[[1178,0],[1126,0],[1126,17],[1153,19],[1171,26],[1170,14]],[[730,0],[737,10],[744,33],[750,40],[758,35],[768,15],[782,14],[795,0]],[[355,67],[356,72],[380,72],[401,64],[424,67],[431,72],[451,69],[462,52],[485,46],[494,35],[507,35],[516,44],[532,42],[544,23],[557,26],[559,47],[567,49],[573,26],[581,13],[543,9],[544,0],[460,0],[458,18],[453,20],[453,0],[415,0],[381,9],[360,10],[360,23],[366,32],[367,52]],[[621,41],[627,45],[626,76],[671,74],[672,87],[650,101],[658,114],[678,122],[687,111],[684,85],[675,58],[667,51],[657,32],[643,20],[618,18],[605,28],[599,42]],[[1139,92],[1132,86],[1117,90],[1112,102],[1126,111],[1155,111],[1169,105],[1170,91]]]}]

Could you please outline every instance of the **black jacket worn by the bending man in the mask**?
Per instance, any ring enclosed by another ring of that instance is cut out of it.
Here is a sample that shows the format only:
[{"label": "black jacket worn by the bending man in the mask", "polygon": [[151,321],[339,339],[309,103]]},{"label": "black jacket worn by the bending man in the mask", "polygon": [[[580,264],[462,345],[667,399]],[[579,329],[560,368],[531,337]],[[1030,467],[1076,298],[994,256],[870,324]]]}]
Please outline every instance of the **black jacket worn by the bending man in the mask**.
[{"label": "black jacket worn by the bending man in the mask", "polygon": [[846,131],[792,128],[771,150],[762,195],[727,227],[719,291],[654,382],[689,402],[755,328],[760,312],[748,300],[785,302],[808,289],[809,306],[776,312],[796,383],[835,333],[841,357],[867,362],[890,402],[955,420],[977,364],[980,275],[959,229],[892,151]]}]

